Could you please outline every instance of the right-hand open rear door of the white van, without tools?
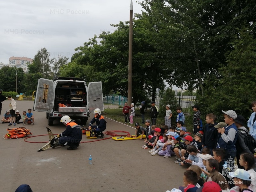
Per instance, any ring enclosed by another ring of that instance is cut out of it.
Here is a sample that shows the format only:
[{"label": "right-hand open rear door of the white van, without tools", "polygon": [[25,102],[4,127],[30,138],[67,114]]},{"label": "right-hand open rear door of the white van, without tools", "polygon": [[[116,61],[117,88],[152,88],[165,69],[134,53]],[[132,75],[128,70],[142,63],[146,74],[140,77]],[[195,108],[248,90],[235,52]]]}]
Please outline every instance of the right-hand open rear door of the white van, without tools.
[{"label": "right-hand open rear door of the white van, without tools", "polygon": [[87,105],[89,112],[93,112],[96,108],[104,111],[101,81],[88,84]]}]

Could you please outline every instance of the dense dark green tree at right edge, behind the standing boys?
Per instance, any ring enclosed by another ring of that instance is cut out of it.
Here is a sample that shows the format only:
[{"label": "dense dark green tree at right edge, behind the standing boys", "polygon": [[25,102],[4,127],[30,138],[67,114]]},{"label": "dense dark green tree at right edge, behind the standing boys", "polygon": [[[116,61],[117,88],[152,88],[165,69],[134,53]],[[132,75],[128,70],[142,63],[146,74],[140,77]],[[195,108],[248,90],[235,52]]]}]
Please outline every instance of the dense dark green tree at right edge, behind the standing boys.
[{"label": "dense dark green tree at right edge, behind the standing boys", "polygon": [[255,100],[256,39],[251,28],[242,28],[232,42],[233,50],[227,55],[227,65],[218,74],[204,81],[204,97],[197,97],[204,113],[215,113],[223,119],[221,110],[234,110],[249,117],[250,103]]}]

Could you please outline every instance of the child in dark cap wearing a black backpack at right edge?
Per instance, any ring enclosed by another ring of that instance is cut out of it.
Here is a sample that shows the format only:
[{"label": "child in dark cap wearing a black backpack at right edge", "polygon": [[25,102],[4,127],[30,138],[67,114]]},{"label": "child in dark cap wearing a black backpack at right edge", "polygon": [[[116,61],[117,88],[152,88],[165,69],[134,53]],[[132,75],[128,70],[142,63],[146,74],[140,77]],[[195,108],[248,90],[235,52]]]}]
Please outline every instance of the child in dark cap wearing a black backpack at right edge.
[{"label": "child in dark cap wearing a black backpack at right edge", "polygon": [[249,134],[249,131],[244,127],[245,118],[241,115],[238,115],[235,119],[235,124],[237,127],[237,141],[236,141],[236,159],[237,166],[240,169],[243,167],[239,164],[240,155],[242,153],[249,153],[253,155],[254,148],[256,147],[256,141]]}]

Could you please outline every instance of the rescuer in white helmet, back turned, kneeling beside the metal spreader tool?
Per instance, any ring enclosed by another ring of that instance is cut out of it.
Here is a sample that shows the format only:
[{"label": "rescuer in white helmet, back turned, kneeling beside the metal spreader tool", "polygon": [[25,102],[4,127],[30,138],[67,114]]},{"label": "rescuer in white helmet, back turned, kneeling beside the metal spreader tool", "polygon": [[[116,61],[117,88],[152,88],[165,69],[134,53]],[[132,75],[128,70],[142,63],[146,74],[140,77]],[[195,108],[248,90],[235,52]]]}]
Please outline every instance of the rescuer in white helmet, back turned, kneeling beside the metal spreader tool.
[{"label": "rescuer in white helmet, back turned, kneeling beside the metal spreader tool", "polygon": [[60,137],[59,144],[61,146],[70,145],[68,150],[76,149],[79,146],[78,143],[82,140],[82,130],[80,126],[67,115],[63,116],[60,119],[60,122],[65,124],[67,127],[64,132],[57,135],[57,137]]}]

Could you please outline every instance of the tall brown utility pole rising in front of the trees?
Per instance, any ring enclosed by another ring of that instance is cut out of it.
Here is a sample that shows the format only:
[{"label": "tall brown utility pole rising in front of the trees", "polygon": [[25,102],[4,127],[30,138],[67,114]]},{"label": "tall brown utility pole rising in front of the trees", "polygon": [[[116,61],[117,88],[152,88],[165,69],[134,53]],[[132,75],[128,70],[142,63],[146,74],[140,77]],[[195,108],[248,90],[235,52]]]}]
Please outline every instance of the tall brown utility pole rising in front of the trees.
[{"label": "tall brown utility pole rising in front of the trees", "polygon": [[129,59],[128,59],[128,105],[132,103],[132,15],[133,15],[133,6],[132,0],[130,5],[130,26],[129,26]]}]

